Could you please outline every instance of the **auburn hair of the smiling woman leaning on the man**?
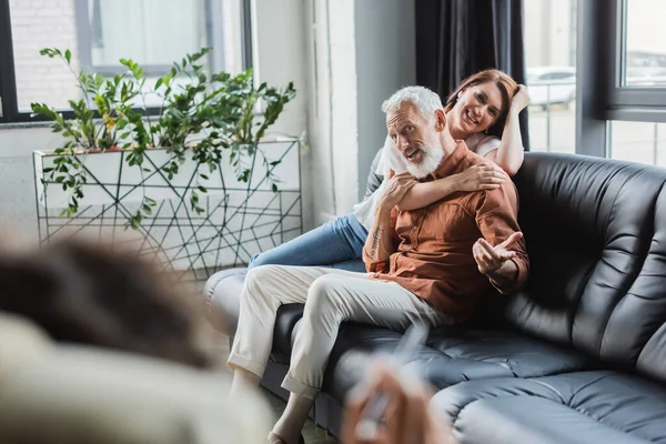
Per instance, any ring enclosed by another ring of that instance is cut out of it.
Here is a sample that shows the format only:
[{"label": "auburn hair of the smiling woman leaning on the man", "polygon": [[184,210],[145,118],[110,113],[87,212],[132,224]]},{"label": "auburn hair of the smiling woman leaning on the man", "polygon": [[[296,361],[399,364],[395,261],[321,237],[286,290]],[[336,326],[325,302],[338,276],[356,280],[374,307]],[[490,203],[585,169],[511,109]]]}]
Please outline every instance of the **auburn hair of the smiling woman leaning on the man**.
[{"label": "auburn hair of the smiling woman leaning on the man", "polygon": [[497,118],[495,124],[487,129],[488,134],[502,139],[504,123],[506,122],[506,115],[508,114],[508,107],[511,105],[513,97],[516,94],[516,92],[518,92],[518,84],[511,75],[500,70],[490,69],[480,71],[463,80],[455,91],[448,94],[446,104],[444,105],[444,111],[448,112],[451,109],[453,109],[453,107],[455,107],[461,92],[465,91],[467,88],[484,83],[494,83],[502,94],[502,109],[500,110],[500,117]]}]

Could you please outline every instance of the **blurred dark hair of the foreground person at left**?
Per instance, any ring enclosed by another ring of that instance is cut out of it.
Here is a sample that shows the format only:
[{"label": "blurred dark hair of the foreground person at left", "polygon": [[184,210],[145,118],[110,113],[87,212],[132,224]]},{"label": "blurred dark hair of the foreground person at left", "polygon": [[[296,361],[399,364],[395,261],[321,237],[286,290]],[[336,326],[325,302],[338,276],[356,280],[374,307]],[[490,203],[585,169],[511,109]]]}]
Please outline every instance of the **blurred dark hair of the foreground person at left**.
[{"label": "blurred dark hair of the foreground person at left", "polygon": [[129,251],[69,239],[0,252],[0,310],[21,314],[56,341],[147,354],[195,367],[205,322],[171,273]]}]

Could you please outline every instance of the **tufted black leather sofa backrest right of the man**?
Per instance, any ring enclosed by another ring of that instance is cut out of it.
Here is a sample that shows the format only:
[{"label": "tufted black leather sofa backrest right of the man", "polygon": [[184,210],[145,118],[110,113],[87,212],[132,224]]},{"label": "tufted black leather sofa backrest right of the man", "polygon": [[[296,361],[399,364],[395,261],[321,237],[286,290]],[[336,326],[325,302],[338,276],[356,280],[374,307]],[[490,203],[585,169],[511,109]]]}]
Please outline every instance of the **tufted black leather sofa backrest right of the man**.
[{"label": "tufted black leather sofa backrest right of the man", "polygon": [[509,322],[666,382],[666,170],[527,153],[514,179],[531,278]]}]

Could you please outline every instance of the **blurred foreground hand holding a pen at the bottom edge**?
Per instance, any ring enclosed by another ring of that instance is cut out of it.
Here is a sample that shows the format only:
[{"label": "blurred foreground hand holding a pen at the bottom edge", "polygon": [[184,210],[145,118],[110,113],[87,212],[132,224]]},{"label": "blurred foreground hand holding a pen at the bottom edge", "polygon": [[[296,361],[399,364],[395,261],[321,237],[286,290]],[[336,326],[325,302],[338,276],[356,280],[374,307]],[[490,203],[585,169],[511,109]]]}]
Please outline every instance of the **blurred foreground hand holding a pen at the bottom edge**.
[{"label": "blurred foreground hand holding a pen at the bottom edge", "polygon": [[[432,392],[414,376],[384,363],[371,365],[372,381],[352,391],[345,403],[343,444],[454,444],[451,430],[430,406]],[[360,433],[362,412],[373,395],[384,393],[389,405],[376,433]],[[363,435],[363,436],[360,436]]]}]

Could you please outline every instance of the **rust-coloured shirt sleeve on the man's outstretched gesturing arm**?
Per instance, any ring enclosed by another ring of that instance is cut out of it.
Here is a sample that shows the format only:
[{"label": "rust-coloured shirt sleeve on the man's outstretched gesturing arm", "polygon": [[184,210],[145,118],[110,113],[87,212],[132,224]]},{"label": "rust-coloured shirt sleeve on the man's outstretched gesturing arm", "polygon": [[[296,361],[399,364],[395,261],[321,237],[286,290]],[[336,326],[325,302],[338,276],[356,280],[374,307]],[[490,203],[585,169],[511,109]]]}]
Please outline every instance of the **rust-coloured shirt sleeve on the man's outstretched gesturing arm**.
[{"label": "rust-coloured shirt sleeve on the man's outstretched gesturing arm", "polygon": [[[476,224],[483,238],[497,245],[506,241],[513,233],[521,231],[518,226],[518,198],[512,182],[505,183],[497,190],[486,191],[480,194],[476,211]],[[491,283],[503,294],[509,294],[519,290],[529,273],[529,259],[525,248],[525,239],[521,239],[511,248],[516,253],[513,262],[518,273],[513,282],[501,285],[491,279]]]}]

